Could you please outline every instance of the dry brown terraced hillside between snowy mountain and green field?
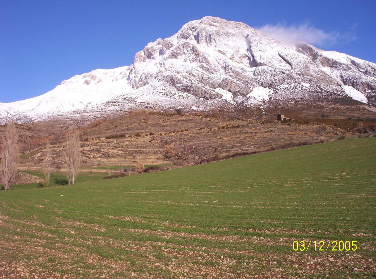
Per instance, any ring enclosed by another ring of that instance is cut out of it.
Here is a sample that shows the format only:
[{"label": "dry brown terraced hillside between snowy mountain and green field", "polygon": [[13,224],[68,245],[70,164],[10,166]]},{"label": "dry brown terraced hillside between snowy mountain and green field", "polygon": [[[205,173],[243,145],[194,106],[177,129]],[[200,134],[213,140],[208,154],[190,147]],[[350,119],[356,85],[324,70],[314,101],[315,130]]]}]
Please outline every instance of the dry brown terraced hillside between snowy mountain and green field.
[{"label": "dry brown terraced hillside between snowy mountain and green field", "polygon": [[[211,115],[218,116],[219,112],[211,112]],[[329,124],[327,121],[331,117],[325,117],[320,122],[320,119],[317,122],[296,119],[292,123],[279,123],[267,117],[264,120],[231,119],[211,115],[133,111],[78,122],[82,140],[81,165],[86,171],[105,172],[105,169],[96,167],[135,165],[138,161],[146,165],[171,162],[190,165],[215,156],[225,158],[239,153],[265,152],[280,149],[286,144],[298,146],[303,142],[317,142],[316,129],[323,122],[327,130],[320,134],[320,138],[324,140],[335,140],[342,135],[355,135],[362,131],[359,124],[344,126],[349,120],[338,126]],[[291,117],[293,112],[286,115]],[[40,169],[44,142],[50,140],[53,170],[65,171],[63,147],[67,127],[71,124],[70,120],[59,120],[17,125],[24,152],[21,169]],[[42,126],[45,128],[42,129]],[[0,135],[2,129],[0,127]],[[30,150],[28,138],[33,141]]]}]

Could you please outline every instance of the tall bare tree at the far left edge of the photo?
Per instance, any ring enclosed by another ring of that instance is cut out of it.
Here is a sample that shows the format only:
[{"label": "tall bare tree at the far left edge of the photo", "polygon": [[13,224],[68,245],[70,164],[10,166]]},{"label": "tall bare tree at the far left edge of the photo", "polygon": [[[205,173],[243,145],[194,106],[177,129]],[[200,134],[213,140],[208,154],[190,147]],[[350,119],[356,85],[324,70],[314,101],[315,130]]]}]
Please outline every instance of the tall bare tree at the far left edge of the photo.
[{"label": "tall bare tree at the far left edge of the photo", "polygon": [[17,175],[20,152],[18,148],[18,136],[13,121],[8,122],[5,132],[5,140],[1,150],[0,176],[5,190],[11,190],[14,179]]}]

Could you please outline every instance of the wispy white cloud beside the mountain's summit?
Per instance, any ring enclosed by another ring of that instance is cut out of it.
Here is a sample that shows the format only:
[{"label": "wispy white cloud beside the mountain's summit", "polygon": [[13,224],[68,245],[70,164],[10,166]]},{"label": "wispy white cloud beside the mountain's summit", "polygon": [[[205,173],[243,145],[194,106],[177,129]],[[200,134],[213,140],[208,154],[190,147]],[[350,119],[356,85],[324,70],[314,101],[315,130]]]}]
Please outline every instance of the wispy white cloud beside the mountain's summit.
[{"label": "wispy white cloud beside the mountain's summit", "polygon": [[312,45],[334,44],[340,36],[338,32],[325,32],[308,23],[299,26],[287,26],[286,23],[266,24],[258,30],[286,45],[293,45],[295,42],[307,42]]}]

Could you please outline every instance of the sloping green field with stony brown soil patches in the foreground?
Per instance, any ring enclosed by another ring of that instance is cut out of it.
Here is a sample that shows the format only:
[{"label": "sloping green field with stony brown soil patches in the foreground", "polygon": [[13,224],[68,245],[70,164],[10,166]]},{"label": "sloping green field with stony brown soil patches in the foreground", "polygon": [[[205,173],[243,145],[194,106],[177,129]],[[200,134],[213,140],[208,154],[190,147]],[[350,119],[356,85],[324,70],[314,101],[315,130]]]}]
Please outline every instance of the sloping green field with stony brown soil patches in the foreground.
[{"label": "sloping green field with stony brown soil patches in the foreground", "polygon": [[0,274],[265,278],[269,245],[274,277],[373,277],[375,196],[376,138],[0,191]]}]

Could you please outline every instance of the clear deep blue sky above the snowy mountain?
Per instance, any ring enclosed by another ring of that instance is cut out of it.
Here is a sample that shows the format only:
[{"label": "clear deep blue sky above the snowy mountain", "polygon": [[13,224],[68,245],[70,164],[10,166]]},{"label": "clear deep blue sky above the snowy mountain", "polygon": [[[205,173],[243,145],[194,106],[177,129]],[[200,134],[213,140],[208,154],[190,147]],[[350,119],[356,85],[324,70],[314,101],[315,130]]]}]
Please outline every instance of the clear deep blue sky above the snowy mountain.
[{"label": "clear deep blue sky above the snowy mountain", "polygon": [[206,15],[252,27],[303,24],[324,34],[317,47],[376,62],[375,0],[0,0],[0,102],[41,95],[97,68],[130,65],[148,42]]}]

